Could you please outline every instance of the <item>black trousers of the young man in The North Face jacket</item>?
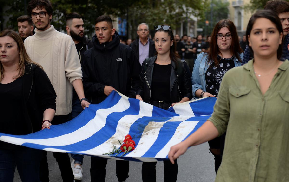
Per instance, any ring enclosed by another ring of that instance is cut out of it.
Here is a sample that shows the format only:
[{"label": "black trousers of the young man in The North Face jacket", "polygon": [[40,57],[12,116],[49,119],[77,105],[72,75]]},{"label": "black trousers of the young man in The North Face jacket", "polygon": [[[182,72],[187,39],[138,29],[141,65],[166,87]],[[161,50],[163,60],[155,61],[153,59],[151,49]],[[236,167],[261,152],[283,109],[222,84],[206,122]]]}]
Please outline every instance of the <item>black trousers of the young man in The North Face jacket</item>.
[{"label": "black trousers of the young man in The North Face jacket", "polygon": [[[106,164],[108,159],[91,156],[90,178],[91,182],[104,182]],[[118,181],[125,181],[129,176],[129,161],[116,160],[116,177]]]}]

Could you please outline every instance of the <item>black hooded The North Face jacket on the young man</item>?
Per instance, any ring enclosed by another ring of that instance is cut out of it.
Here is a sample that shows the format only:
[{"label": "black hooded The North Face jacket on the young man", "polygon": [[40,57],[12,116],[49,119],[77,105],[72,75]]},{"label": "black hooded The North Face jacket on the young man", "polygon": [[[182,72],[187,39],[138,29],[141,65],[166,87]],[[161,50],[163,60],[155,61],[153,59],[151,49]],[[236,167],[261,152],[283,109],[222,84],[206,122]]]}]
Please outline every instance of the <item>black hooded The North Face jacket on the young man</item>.
[{"label": "black hooded The North Face jacket on the young man", "polygon": [[81,62],[84,92],[90,103],[100,103],[107,97],[105,86],[112,86],[129,98],[135,98],[140,64],[133,50],[120,43],[117,31],[110,42],[100,44],[96,35],[92,42],[94,47],[84,53]]}]

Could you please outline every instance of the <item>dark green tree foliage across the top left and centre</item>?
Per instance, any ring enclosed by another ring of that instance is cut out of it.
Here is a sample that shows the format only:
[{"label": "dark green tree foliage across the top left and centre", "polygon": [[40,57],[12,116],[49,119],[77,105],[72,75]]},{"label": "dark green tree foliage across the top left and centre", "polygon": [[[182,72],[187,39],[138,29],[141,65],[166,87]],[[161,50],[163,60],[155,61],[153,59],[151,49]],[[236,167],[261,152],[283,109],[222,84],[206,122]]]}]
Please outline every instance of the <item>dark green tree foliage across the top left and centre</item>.
[{"label": "dark green tree foliage across the top left and centre", "polygon": [[[0,0],[1,6],[9,8],[7,26],[17,30],[16,19],[25,14],[29,0]],[[204,0],[50,0],[53,5],[51,24],[57,30],[65,30],[65,17],[72,12],[79,13],[84,20],[86,32],[93,33],[95,19],[103,14],[127,19],[129,33],[136,36],[137,25],[146,22],[151,30],[154,25],[169,24],[172,29],[180,26],[182,20],[191,15],[203,16]],[[1,16],[1,15],[0,15]],[[2,17],[2,16],[1,16]]]}]

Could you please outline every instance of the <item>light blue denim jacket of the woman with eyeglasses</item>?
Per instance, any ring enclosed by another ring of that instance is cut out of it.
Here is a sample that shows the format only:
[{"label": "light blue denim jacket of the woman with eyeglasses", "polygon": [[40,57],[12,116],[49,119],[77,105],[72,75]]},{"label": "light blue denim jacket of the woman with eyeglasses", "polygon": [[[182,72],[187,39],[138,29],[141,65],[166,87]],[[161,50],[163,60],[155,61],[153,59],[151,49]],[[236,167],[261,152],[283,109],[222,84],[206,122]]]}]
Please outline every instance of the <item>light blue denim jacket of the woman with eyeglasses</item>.
[{"label": "light blue denim jacket of the woman with eyeglasses", "polygon": [[[243,59],[243,53],[239,54],[240,58]],[[208,54],[202,52],[199,54],[195,61],[194,69],[192,72],[192,91],[194,98],[196,97],[196,91],[202,89],[206,92],[206,76],[205,73],[210,65],[206,64],[208,59]],[[234,58],[235,67],[241,66],[241,62],[238,61],[238,58]]]}]

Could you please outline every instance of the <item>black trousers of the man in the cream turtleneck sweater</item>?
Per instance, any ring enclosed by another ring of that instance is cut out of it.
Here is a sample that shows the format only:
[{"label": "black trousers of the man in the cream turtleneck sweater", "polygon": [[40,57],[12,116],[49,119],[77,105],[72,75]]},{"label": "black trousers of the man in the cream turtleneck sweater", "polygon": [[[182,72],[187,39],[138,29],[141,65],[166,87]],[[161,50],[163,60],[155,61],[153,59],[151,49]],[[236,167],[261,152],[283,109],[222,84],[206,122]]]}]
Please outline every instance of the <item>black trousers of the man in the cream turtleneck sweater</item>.
[{"label": "black trousers of the man in the cream turtleneck sweater", "polygon": [[[69,114],[68,115],[60,115],[54,116],[51,124],[62,124],[68,122]],[[60,153],[60,152],[52,152],[53,157],[58,162],[58,166],[60,169],[61,177],[63,182],[73,182],[74,175],[70,165],[70,158],[68,153]],[[48,163],[47,163],[47,151],[43,152],[42,160],[40,163],[40,180],[41,182],[49,182],[49,170],[48,170]]]}]

